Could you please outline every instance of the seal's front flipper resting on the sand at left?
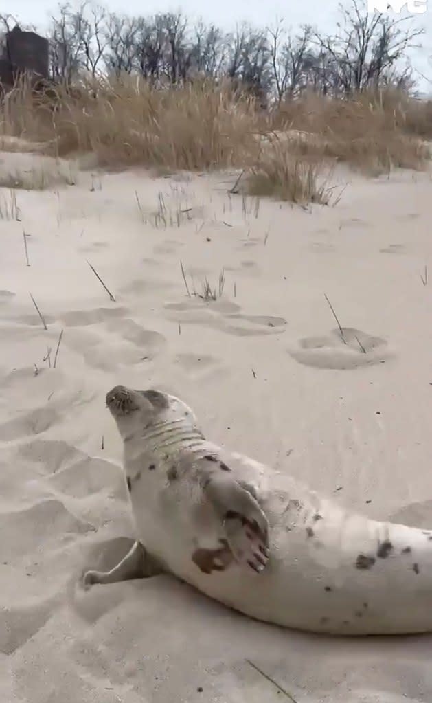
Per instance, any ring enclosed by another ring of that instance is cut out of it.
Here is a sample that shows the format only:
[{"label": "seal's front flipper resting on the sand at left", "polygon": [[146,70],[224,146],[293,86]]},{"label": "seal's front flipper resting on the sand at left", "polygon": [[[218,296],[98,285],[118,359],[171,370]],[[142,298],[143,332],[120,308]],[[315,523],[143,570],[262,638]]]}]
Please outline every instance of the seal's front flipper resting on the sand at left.
[{"label": "seal's front flipper resting on the sand at left", "polygon": [[148,554],[143,545],[136,541],[119,564],[109,572],[88,571],[82,583],[87,590],[95,583],[119,583],[130,579],[147,579],[162,574],[162,567]]}]

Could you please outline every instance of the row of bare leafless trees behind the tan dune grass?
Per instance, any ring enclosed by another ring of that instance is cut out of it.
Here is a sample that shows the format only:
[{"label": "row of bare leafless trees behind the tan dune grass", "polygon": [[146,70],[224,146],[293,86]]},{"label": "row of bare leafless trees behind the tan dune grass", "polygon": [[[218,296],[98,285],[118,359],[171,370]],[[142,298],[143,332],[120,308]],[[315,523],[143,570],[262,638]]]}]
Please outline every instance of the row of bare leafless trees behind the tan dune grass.
[{"label": "row of bare leafless trees behind the tan dune grass", "polygon": [[[49,33],[53,78],[71,81],[83,69],[92,75],[108,70],[174,85],[197,75],[225,75],[262,103],[296,98],[306,88],[349,96],[381,85],[411,85],[407,49],[421,34],[405,19],[367,13],[366,0],[340,7],[333,36],[308,26],[287,33],[282,22],[267,30],[243,23],[226,34],[199,20],[190,29],[182,13],[131,17],[94,2],[83,0],[74,10],[67,1],[58,6]],[[13,21],[0,17],[0,33],[1,25],[8,30]]]}]

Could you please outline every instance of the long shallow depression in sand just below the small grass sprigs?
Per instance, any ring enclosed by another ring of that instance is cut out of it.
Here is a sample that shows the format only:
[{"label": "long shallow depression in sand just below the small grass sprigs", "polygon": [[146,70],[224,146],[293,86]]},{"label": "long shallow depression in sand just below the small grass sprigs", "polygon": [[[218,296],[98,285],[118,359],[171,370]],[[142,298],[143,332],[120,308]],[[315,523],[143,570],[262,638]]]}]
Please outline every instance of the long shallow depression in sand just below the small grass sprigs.
[{"label": "long shallow depression in sand just below the small grass sprigs", "polygon": [[237,337],[280,334],[287,325],[283,317],[244,315],[239,305],[221,299],[206,302],[194,296],[185,302],[166,303],[164,308],[169,320],[204,325]]}]

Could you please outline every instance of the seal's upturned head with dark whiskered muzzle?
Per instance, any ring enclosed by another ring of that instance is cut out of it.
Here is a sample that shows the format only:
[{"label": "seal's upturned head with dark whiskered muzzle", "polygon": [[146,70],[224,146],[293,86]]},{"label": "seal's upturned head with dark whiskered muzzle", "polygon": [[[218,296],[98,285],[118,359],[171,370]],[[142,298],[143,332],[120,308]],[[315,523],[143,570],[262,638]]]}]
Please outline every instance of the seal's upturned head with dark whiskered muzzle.
[{"label": "seal's upturned head with dark whiskered muzzle", "polygon": [[107,392],[105,400],[122,439],[138,431],[141,437],[152,434],[152,428],[159,428],[165,423],[197,427],[192,410],[176,396],[162,391],[137,391],[119,385]]}]

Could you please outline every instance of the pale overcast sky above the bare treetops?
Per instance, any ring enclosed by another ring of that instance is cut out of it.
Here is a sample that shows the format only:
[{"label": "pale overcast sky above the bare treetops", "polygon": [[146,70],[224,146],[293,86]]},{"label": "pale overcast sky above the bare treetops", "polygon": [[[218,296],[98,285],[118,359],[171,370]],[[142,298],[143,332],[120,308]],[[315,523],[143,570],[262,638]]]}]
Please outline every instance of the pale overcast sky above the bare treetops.
[{"label": "pale overcast sky above the bare treetops", "polygon": [[[349,1],[349,0],[348,0]],[[81,4],[81,3],[79,3]],[[287,27],[294,30],[301,24],[312,24],[325,32],[332,32],[338,17],[338,0],[216,0],[207,4],[202,0],[107,0],[101,3],[110,11],[129,15],[152,15],[156,12],[177,11],[181,9],[190,19],[202,16],[207,22],[215,22],[225,30],[234,29],[236,22],[247,20],[259,27],[274,24],[276,18],[283,18]],[[346,4],[346,3],[343,3]],[[72,5],[74,3],[72,2]],[[0,12],[11,13],[22,24],[32,23],[43,32],[44,25],[51,13],[55,12],[57,3],[51,0],[1,0]],[[428,93],[432,91],[432,0],[428,0],[428,9],[422,15],[413,18],[416,26],[424,27],[426,34],[422,38],[424,49],[414,53],[414,66],[426,75],[429,83],[421,81],[421,88]]]}]

